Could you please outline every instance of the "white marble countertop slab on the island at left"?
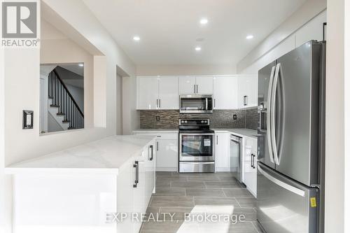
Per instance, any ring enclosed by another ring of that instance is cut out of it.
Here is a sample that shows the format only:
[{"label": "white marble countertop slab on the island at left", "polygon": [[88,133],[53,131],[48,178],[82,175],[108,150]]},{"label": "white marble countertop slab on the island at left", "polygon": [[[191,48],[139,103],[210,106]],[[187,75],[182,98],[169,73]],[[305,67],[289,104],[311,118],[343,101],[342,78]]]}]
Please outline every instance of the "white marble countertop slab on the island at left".
[{"label": "white marble countertop slab on the island at left", "polygon": [[118,174],[132,157],[141,156],[154,136],[110,136],[80,146],[10,164],[6,174]]}]

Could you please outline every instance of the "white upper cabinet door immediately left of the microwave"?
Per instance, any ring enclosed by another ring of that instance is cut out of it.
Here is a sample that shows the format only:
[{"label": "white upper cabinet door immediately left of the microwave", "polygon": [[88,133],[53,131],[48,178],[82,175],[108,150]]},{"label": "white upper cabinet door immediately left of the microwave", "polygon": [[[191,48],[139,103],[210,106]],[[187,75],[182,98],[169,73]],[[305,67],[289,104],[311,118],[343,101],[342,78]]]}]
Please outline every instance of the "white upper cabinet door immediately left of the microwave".
[{"label": "white upper cabinet door immediately left of the microwave", "polygon": [[159,78],[159,108],[179,109],[179,78]]}]

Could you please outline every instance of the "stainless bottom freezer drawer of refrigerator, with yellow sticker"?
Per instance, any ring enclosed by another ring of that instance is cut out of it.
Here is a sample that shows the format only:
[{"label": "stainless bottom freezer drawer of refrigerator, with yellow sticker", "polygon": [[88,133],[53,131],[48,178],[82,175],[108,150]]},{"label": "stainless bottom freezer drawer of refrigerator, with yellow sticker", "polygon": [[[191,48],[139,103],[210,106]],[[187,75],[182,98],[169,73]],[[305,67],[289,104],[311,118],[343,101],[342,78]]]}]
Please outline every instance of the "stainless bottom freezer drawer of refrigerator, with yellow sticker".
[{"label": "stainless bottom freezer drawer of refrigerator, with yellow sticker", "polygon": [[258,162],[258,221],[267,233],[316,233],[318,189]]}]

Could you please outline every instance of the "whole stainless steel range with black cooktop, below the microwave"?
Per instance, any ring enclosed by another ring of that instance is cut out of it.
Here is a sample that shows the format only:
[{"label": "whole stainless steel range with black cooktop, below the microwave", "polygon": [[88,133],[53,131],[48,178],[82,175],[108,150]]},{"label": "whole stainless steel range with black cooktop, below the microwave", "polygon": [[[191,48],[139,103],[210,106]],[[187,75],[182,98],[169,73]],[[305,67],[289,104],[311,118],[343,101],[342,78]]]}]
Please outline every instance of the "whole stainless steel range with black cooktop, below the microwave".
[{"label": "whole stainless steel range with black cooktop, below the microwave", "polygon": [[215,137],[209,126],[209,119],[179,120],[179,172],[215,172]]}]

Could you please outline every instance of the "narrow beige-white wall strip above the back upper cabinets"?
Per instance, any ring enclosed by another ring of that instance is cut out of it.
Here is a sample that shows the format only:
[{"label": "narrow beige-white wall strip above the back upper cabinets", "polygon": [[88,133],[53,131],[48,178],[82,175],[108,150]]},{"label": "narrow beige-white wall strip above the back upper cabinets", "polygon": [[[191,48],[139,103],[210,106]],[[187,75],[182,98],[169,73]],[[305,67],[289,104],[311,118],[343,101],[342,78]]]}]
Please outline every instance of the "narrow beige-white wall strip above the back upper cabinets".
[{"label": "narrow beige-white wall strip above the back upper cabinets", "polygon": [[200,76],[230,75],[236,73],[235,65],[143,65],[137,66],[137,76]]}]

